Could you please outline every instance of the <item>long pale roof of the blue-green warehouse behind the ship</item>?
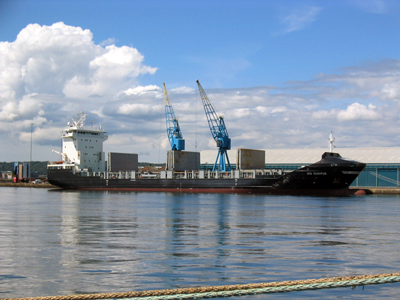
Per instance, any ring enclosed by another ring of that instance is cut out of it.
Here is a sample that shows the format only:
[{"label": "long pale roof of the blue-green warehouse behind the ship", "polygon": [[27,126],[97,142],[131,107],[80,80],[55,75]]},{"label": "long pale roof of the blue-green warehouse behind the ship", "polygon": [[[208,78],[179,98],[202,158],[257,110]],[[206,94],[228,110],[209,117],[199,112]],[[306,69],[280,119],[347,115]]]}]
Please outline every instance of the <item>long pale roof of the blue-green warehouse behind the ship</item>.
[{"label": "long pale roof of the blue-green warehouse behind the ship", "polygon": [[[311,164],[321,159],[326,148],[313,149],[262,149],[266,164]],[[238,149],[228,151],[229,160],[236,164]],[[400,147],[336,148],[342,157],[367,164],[400,164]],[[214,164],[217,150],[201,151],[202,164]]]}]

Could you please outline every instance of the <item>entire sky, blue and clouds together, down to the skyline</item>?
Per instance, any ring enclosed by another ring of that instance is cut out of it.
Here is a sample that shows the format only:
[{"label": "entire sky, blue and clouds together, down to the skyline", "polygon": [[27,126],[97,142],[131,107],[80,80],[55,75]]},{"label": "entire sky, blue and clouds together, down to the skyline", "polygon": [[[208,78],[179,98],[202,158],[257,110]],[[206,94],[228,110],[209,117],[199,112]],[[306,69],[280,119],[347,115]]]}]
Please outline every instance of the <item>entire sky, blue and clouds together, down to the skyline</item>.
[{"label": "entire sky, blue and clouds together, down to the skyline", "polygon": [[157,161],[162,82],[187,149],[216,149],[196,79],[233,148],[326,147],[330,130],[337,147],[398,146],[399,37],[390,0],[0,0],[0,139],[19,149],[0,161],[29,157],[32,122],[34,159],[53,159],[79,111],[106,151]]}]

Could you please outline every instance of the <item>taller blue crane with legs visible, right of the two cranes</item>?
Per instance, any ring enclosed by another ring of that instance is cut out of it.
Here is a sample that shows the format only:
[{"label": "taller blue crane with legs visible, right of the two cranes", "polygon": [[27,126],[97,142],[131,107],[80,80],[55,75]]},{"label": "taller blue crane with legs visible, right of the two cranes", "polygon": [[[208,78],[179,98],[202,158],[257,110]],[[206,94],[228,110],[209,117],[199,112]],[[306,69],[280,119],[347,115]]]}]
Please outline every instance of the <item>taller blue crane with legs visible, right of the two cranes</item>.
[{"label": "taller blue crane with legs visible, right of the two cranes", "polygon": [[[196,80],[199,87],[199,92],[201,96],[201,101],[203,102],[204,111],[206,113],[208,126],[210,127],[211,135],[217,143],[218,155],[215,160],[213,171],[218,169],[219,171],[225,172],[231,170],[231,164],[229,163],[227,150],[231,149],[231,139],[228,135],[228,130],[226,129],[224,117],[217,116],[214,107],[212,106],[210,100],[203,90],[200,82]],[[219,164],[218,164],[219,159]],[[225,161],[226,160],[226,161]]]}]

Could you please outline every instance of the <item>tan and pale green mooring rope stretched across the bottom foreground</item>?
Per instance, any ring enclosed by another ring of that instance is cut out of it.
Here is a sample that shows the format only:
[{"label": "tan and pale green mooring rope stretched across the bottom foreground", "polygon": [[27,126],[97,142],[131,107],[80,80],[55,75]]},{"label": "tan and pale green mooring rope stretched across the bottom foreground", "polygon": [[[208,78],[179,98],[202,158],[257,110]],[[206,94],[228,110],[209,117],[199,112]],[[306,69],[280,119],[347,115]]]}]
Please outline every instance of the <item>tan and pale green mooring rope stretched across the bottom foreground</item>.
[{"label": "tan and pale green mooring rope stretched across the bottom foreground", "polygon": [[258,295],[267,293],[286,293],[293,291],[331,289],[339,287],[352,287],[354,289],[356,286],[394,283],[394,282],[400,282],[400,273],[332,277],[332,278],[282,281],[282,282],[266,282],[266,283],[255,283],[255,284],[221,285],[221,286],[182,288],[182,289],[121,292],[121,293],[81,294],[81,295],[27,297],[27,298],[4,298],[2,300],[89,300],[89,299],[121,299],[121,298],[132,298],[132,300],[133,299],[136,300],[204,299],[204,298],[217,298],[217,297]]}]

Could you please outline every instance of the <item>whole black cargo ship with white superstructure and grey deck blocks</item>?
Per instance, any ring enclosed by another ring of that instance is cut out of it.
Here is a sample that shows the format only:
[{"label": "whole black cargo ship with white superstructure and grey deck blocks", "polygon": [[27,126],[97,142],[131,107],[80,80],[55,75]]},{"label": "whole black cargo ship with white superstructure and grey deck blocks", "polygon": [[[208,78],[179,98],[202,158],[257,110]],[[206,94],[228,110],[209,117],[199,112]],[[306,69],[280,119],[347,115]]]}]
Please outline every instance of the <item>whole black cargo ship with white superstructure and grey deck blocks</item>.
[{"label": "whole black cargo ship with white superstructure and grey deck blocks", "polygon": [[[365,164],[325,152],[321,160],[296,170],[266,170],[265,151],[239,149],[236,168],[230,171],[201,169],[200,153],[170,150],[166,168],[148,174],[139,171],[138,155],[108,153],[106,132],[84,127],[86,115],[68,123],[62,133],[62,160],[48,164],[48,181],[63,189],[190,192],[261,193],[294,195],[347,195],[350,184]],[[264,152],[264,156],[262,153]],[[250,155],[249,155],[250,153]],[[257,161],[240,163],[241,156]]]}]

